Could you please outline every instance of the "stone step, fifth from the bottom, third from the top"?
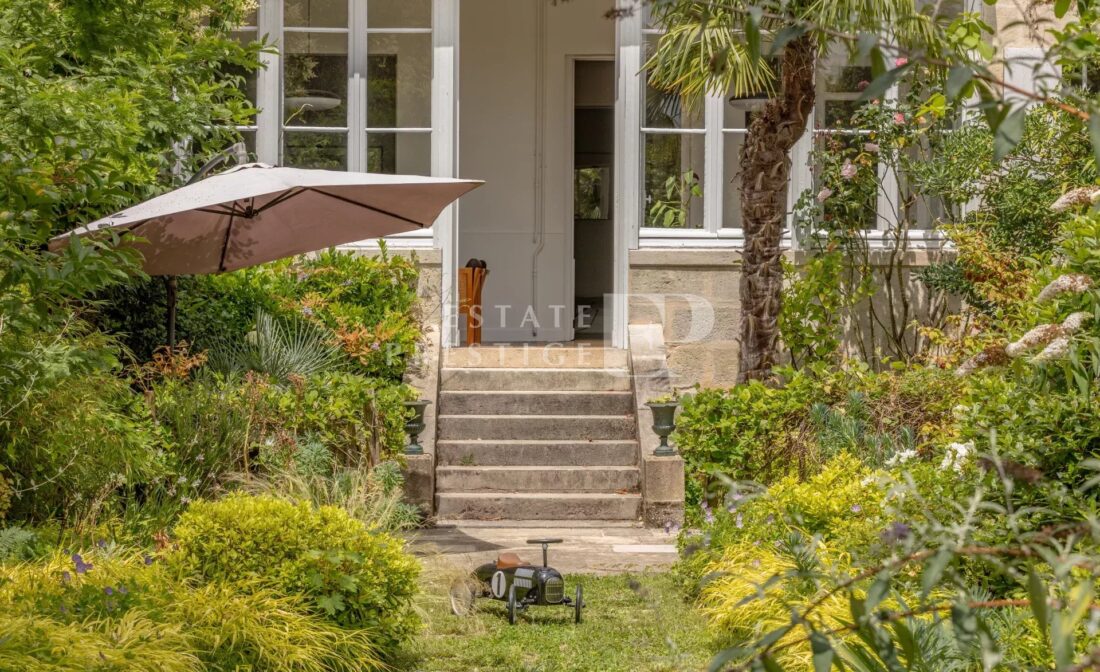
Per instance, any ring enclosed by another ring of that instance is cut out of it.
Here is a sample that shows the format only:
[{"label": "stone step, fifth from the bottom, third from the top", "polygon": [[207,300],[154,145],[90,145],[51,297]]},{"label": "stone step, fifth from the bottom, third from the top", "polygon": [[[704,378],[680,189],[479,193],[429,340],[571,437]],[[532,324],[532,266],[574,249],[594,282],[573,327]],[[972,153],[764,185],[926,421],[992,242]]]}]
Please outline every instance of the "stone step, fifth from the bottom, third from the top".
[{"label": "stone step, fifth from the bottom, third from the top", "polygon": [[634,395],[629,392],[455,390],[439,395],[439,411],[448,416],[627,416],[634,412]]}]

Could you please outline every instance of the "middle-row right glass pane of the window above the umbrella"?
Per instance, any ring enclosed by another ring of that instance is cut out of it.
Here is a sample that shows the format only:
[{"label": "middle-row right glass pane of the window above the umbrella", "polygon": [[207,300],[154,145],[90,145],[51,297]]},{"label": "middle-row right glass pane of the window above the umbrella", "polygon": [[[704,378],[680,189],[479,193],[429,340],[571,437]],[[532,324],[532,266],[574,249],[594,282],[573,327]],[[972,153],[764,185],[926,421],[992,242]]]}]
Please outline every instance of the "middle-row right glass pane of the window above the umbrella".
[{"label": "middle-row right glass pane of the window above the umbrella", "polygon": [[431,128],[431,35],[372,33],[367,47],[367,128]]}]

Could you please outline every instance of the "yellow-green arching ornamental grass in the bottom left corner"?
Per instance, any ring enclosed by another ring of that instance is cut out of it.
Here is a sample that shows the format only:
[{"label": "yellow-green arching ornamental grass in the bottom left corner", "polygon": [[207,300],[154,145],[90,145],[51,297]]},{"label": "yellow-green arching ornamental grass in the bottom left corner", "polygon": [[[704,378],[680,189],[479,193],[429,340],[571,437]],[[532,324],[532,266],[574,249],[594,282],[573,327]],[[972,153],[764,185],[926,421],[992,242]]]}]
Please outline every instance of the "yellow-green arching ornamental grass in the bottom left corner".
[{"label": "yellow-green arching ornamental grass in the bottom left corner", "polygon": [[0,670],[383,668],[370,630],[311,615],[299,597],[195,587],[147,557],[79,558],[0,565]]}]

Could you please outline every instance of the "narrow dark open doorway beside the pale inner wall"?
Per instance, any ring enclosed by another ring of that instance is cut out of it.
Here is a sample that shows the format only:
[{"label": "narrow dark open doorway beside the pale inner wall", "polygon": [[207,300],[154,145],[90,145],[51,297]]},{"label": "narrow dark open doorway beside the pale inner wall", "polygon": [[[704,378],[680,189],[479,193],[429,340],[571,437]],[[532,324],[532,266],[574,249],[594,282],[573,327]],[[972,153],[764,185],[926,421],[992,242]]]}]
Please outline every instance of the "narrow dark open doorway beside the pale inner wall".
[{"label": "narrow dark open doorway beside the pale inner wall", "polygon": [[573,60],[573,333],[610,339],[614,291],[615,62]]}]

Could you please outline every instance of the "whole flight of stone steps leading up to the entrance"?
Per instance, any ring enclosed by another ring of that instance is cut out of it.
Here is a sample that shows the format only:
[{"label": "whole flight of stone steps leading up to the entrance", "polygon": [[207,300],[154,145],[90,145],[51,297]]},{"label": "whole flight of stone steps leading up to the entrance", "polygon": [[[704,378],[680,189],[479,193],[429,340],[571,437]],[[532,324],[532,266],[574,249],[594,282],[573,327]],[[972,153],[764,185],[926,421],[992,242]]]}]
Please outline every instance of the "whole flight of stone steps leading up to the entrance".
[{"label": "whole flight of stone steps leading up to the entrance", "polygon": [[641,474],[629,374],[625,350],[446,351],[437,518],[638,520]]}]

